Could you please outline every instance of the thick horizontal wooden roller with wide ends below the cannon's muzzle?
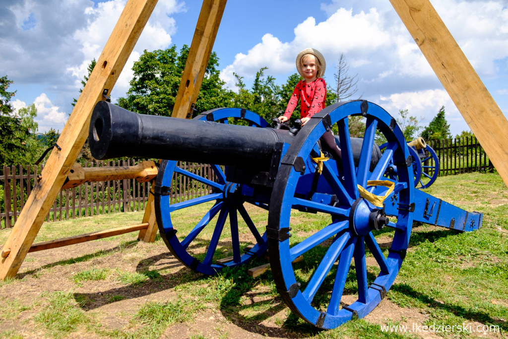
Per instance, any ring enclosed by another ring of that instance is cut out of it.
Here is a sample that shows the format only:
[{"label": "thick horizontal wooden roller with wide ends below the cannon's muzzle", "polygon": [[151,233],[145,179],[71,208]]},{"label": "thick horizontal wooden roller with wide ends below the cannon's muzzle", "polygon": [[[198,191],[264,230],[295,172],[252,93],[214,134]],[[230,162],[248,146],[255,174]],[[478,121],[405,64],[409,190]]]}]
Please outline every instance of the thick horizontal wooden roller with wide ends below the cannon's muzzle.
[{"label": "thick horizontal wooden roller with wide ends below the cannon's muzzle", "polygon": [[85,167],[76,163],[72,166],[62,189],[72,189],[84,182],[136,179],[148,182],[157,176],[153,161],[143,161],[135,166]]}]

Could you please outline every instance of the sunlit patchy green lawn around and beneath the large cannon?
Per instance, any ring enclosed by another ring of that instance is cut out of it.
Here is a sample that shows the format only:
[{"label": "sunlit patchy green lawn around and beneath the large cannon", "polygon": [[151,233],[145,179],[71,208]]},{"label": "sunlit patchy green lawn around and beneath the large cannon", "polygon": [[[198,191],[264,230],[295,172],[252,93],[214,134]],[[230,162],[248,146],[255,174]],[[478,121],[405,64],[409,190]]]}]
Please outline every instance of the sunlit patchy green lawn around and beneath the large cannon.
[{"label": "sunlit patchy green lawn around and beneath the large cannon", "polygon": [[[433,186],[425,191],[469,211],[483,212],[483,227],[476,232],[458,233],[415,224],[407,256],[395,284],[388,292],[388,301],[385,300],[384,303],[388,305],[394,303],[408,313],[414,312],[421,315],[424,325],[433,323],[451,326],[462,323],[493,325],[498,326],[500,335],[506,336],[508,331],[508,295],[506,294],[508,189],[497,174],[473,173],[439,177]],[[210,206],[203,204],[200,206],[201,209],[182,209],[177,211],[178,215],[172,215],[175,228],[179,231],[177,236],[183,238]],[[261,232],[266,226],[267,212],[252,209],[250,215]],[[110,228],[133,224],[141,219],[141,212],[132,212],[45,223],[38,239],[43,241],[43,239],[50,240],[55,237],[86,233],[104,229],[104,225]],[[239,223],[242,246],[253,242],[248,237],[249,233],[245,231],[246,225],[242,224],[241,218]],[[302,241],[327,223],[328,220],[323,214],[295,211],[292,214],[293,236],[290,241],[292,243]],[[231,234],[229,222],[224,231],[227,238]],[[5,240],[6,233],[6,231],[0,231],[0,242],[2,239]],[[380,232],[379,237],[388,238],[392,233],[393,231],[385,229]],[[206,245],[210,237],[211,230],[207,229],[193,244]],[[190,330],[190,337],[201,338],[209,337],[210,334],[195,328],[198,322],[196,318],[202,313],[218,311],[226,320],[214,325],[214,337],[234,337],[235,333],[231,329],[235,327],[260,334],[270,334],[269,329],[273,326],[280,329],[279,336],[288,337],[400,338],[417,336],[415,333],[384,332],[380,329],[379,325],[401,324],[407,320],[404,317],[409,315],[396,319],[382,319],[378,322],[359,319],[334,330],[317,330],[296,317],[285,306],[275,288],[271,271],[257,279],[247,275],[249,268],[266,263],[264,259],[253,260],[235,269],[226,268],[216,276],[207,277],[184,269],[181,265],[172,263],[171,260],[155,266],[153,254],[147,253],[154,246],[160,246],[161,253],[167,252],[160,238],[157,238],[154,244],[137,243],[133,241],[133,234],[97,241],[105,240],[116,241],[118,245],[111,251],[98,251],[58,261],[52,264],[51,270],[28,272],[28,278],[35,276],[37,272],[39,280],[31,280],[31,282],[38,284],[38,281],[49,279],[51,274],[58,272],[60,268],[80,265],[70,278],[72,287],[57,286],[55,289],[58,291],[35,297],[29,303],[12,292],[10,298],[0,297],[0,328],[3,327],[2,324],[7,324],[9,321],[19,321],[25,314],[27,316],[23,321],[37,328],[40,336],[76,337],[80,334],[85,336],[84,333],[89,331],[103,337],[152,338],[163,336],[166,329],[174,324],[184,323]],[[221,241],[217,247],[217,257],[231,256],[232,251],[229,245]],[[199,246],[190,250],[194,251],[198,257],[204,256],[203,248],[200,249]],[[302,282],[308,280],[325,250],[321,246],[316,246],[304,255],[302,262],[294,265],[299,280]],[[384,251],[387,250],[384,249]],[[121,261],[118,261],[118,258],[121,258]],[[116,262],[117,266],[101,266],[110,262]],[[368,279],[375,278],[377,272],[377,267],[369,266]],[[0,295],[2,291],[28,289],[25,280],[11,279],[0,282]],[[112,287],[106,287],[106,290],[103,290],[100,287],[102,285],[97,284],[101,281]],[[331,289],[332,284],[333,276],[329,276],[325,280],[323,289]],[[73,289],[78,288],[80,293],[75,293]],[[101,293],[104,292],[104,295],[98,293],[96,289],[99,289]],[[157,295],[156,292],[165,290],[171,292],[171,297],[164,300],[152,300],[151,296]],[[345,291],[349,293],[356,291],[354,266],[348,272]],[[329,295],[323,293],[317,296],[315,302],[317,305],[326,304],[328,298]],[[135,300],[143,300],[143,302],[135,303]],[[107,327],[106,316],[99,314],[101,309],[98,307],[101,305],[108,307],[107,316],[125,319],[126,325],[117,329]],[[132,305],[133,309],[124,310],[126,305]],[[112,312],[112,309],[115,311]],[[115,315],[114,312],[117,314]],[[407,321],[411,321],[411,318],[408,319]],[[270,325],[265,325],[267,322]],[[252,330],[252,328],[256,329]],[[436,334],[449,337],[482,336],[475,331],[453,333],[453,335]],[[0,337],[19,337],[20,335],[21,332],[16,329],[6,328],[0,331]]]}]

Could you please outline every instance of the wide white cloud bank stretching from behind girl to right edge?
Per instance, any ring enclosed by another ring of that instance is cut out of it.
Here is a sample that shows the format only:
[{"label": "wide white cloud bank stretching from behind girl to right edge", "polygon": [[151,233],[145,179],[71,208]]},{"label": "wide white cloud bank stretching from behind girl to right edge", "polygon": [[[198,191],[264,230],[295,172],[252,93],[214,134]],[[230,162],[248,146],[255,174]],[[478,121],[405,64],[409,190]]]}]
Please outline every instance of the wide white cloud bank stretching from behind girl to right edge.
[{"label": "wide white cloud bank stretching from behind girl to right edge", "polygon": [[[505,67],[503,61],[508,59],[506,0],[433,3],[481,77],[495,78],[505,72],[499,68]],[[286,76],[296,72],[294,58],[298,51],[314,47],[327,60],[325,76],[333,87],[334,67],[340,53],[344,53],[350,74],[358,74],[358,93],[364,99],[387,105],[396,114],[399,109],[408,109],[411,115],[423,117],[424,124],[444,105],[453,134],[469,129],[389,2],[331,0],[321,4],[321,9],[326,19],[320,22],[308,17],[299,22],[293,40],[282,41],[275,33],[265,34],[260,43],[238,53],[234,62],[223,69],[221,78],[232,86],[233,72],[247,80],[264,66],[270,68],[267,74]]]}]

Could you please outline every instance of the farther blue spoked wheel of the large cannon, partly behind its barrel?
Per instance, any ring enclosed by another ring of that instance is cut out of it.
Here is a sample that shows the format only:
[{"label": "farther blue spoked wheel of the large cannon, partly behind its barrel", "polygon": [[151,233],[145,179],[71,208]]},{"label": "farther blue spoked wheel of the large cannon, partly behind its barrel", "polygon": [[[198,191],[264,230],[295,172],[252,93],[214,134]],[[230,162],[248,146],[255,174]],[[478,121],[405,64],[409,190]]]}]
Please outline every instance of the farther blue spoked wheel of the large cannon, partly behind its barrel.
[{"label": "farther blue spoked wheel of the large cannon, partly behind its barrel", "polygon": [[[239,108],[214,109],[195,117],[198,120],[219,121],[223,124],[228,124],[228,118],[241,119],[252,127],[268,126],[268,122],[256,113]],[[214,175],[189,171],[179,167],[176,161],[162,161],[156,178],[154,197],[158,228],[171,253],[190,269],[208,275],[216,274],[227,266],[242,265],[253,256],[261,256],[267,249],[266,234],[259,233],[244,206],[245,202],[256,202],[248,201],[239,194],[239,184],[226,181],[223,167],[212,164],[211,168]],[[174,188],[173,180],[176,176],[184,176],[188,180],[207,185],[212,189],[212,193],[171,204],[168,192]],[[268,208],[264,204],[256,205]],[[199,209],[202,212],[198,215],[195,215],[194,211],[186,213],[194,217],[195,226],[192,230],[183,232],[183,227],[178,226],[181,221],[172,218],[172,215],[181,209],[190,211],[193,207],[201,206],[204,206],[204,209]],[[230,235],[225,234],[228,233],[225,232],[228,219]],[[244,224],[239,223],[239,220],[243,220]],[[244,225],[245,229],[239,229],[241,225]],[[204,233],[208,235],[204,236]],[[254,246],[242,253],[242,246],[247,244],[241,241],[240,237],[245,237],[245,234]],[[225,261],[225,257],[231,254],[231,260]]]}]

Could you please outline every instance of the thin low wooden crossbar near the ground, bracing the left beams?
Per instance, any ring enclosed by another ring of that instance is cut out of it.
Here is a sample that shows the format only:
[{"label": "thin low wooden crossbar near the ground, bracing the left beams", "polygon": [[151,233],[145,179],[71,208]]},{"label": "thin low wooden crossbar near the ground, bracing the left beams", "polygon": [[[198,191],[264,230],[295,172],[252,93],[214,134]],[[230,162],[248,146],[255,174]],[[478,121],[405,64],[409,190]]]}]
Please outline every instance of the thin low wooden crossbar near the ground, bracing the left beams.
[{"label": "thin low wooden crossbar near the ground, bracing the left beams", "polygon": [[[132,226],[122,226],[117,228],[111,228],[109,230],[103,230],[98,232],[91,232],[86,234],[74,235],[72,237],[49,240],[34,243],[30,246],[28,253],[38,252],[50,249],[56,249],[63,246],[74,245],[81,242],[92,241],[97,239],[109,238],[115,235],[125,234],[136,232],[139,230],[146,229],[148,227],[148,223],[140,224],[140,225],[132,225]],[[9,249],[2,251],[2,258],[7,258],[10,254]]]}]

